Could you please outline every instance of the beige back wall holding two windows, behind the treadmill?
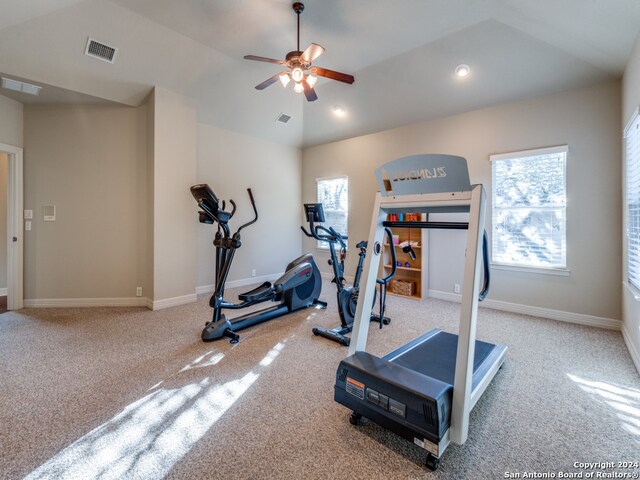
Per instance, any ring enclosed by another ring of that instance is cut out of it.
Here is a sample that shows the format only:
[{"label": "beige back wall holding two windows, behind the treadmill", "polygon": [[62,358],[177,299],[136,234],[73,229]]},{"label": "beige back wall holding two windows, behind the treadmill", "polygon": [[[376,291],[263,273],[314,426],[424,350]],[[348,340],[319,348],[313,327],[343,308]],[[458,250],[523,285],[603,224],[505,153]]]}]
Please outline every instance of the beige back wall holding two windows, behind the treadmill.
[{"label": "beige back wall holding two windows, behind the treadmill", "polygon": [[[620,319],[620,83],[548,95],[305,149],[304,201],[315,200],[315,179],[349,176],[349,236],[368,236],[376,191],[373,171],[417,153],[467,159],[472,183],[490,197],[489,155],[569,145],[567,180],[568,277],[494,269],[489,298]],[[490,212],[490,202],[487,205]],[[490,231],[490,218],[486,228]],[[460,232],[438,232],[430,245],[429,288],[453,292],[462,283]],[[303,249],[313,242],[304,239]],[[355,269],[351,255],[347,274]],[[325,262],[319,264],[323,270]]]}]

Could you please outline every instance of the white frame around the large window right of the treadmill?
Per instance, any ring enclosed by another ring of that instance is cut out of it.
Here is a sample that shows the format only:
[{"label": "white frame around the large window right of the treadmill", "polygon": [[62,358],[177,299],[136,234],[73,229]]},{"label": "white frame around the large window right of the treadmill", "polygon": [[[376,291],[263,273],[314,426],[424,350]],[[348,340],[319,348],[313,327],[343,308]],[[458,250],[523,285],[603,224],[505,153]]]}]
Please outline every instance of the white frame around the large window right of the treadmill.
[{"label": "white frame around the large window right of the treadmill", "polygon": [[[554,153],[563,153],[565,155],[564,158],[564,192],[565,192],[565,202],[564,202],[564,206],[561,207],[564,209],[564,225],[563,225],[563,241],[564,241],[564,265],[558,265],[558,266],[544,266],[544,265],[527,265],[527,264],[523,264],[523,263],[507,263],[507,262],[500,262],[500,261],[496,261],[495,260],[495,256],[494,256],[494,252],[495,252],[495,248],[496,248],[496,236],[495,236],[495,232],[492,230],[492,235],[491,235],[491,265],[492,267],[499,269],[499,270],[515,270],[515,271],[522,271],[522,272],[529,272],[529,273],[542,273],[542,274],[551,274],[551,275],[562,275],[562,276],[568,276],[570,275],[570,271],[567,268],[567,256],[568,256],[568,252],[567,252],[567,201],[566,201],[566,196],[567,196],[567,163],[568,163],[568,153],[569,153],[569,146],[568,145],[558,145],[555,147],[546,147],[546,148],[536,148],[536,149],[530,149],[530,150],[521,150],[521,151],[517,151],[517,152],[508,152],[508,153],[501,153],[501,154],[496,154],[496,155],[490,155],[489,160],[491,162],[491,183],[492,183],[492,188],[491,188],[491,219],[492,219],[492,224],[493,224],[493,219],[495,218],[496,215],[496,207],[495,207],[495,165],[496,162],[499,162],[501,160],[513,160],[513,159],[520,159],[520,158],[527,158],[527,157],[535,157],[538,155],[549,155],[549,154],[554,154]],[[544,210],[546,208],[549,207],[540,207],[541,210]],[[554,207],[554,208],[558,208],[558,207]]]}]

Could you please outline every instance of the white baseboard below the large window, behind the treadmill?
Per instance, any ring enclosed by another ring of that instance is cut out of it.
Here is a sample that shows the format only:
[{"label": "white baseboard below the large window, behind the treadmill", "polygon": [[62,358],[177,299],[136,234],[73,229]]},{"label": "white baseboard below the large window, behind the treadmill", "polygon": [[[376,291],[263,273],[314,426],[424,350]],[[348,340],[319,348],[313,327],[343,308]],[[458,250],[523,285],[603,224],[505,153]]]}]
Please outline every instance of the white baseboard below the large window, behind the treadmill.
[{"label": "white baseboard below the large window, behind the treadmill", "polygon": [[[441,292],[438,290],[429,290],[428,294],[432,298],[440,300],[448,300],[450,302],[460,303],[462,295],[459,293]],[[502,310],[504,312],[522,313],[533,317],[549,318],[551,320],[559,320],[561,322],[577,323],[579,325],[588,325],[590,327],[606,328],[610,330],[621,330],[622,321],[612,318],[596,317],[594,315],[585,315],[583,313],[565,312],[562,310],[553,310],[551,308],[532,307],[529,305],[520,305],[518,303],[503,302],[500,300],[492,300],[487,298],[481,304],[481,307],[493,308],[494,310]]]}]

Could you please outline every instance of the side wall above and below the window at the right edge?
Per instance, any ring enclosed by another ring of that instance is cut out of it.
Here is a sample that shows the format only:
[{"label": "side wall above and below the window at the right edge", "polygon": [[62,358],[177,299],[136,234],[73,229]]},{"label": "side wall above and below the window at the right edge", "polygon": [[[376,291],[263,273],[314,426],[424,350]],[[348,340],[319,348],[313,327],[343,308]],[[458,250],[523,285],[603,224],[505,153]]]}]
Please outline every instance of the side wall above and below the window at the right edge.
[{"label": "side wall above and below the window at the right edge", "polygon": [[[640,36],[636,39],[635,47],[631,53],[629,63],[623,77],[622,87],[622,126],[627,124],[636,108],[640,106]],[[623,183],[624,185],[624,183]],[[624,195],[624,192],[623,192]],[[625,238],[626,224],[621,228],[623,239]],[[626,243],[625,243],[626,246]],[[625,247],[626,248],[626,247]],[[627,281],[627,255],[626,249],[622,257],[622,281]],[[622,304],[625,340],[629,345],[632,356],[640,371],[640,296],[625,287],[622,290]]]}]

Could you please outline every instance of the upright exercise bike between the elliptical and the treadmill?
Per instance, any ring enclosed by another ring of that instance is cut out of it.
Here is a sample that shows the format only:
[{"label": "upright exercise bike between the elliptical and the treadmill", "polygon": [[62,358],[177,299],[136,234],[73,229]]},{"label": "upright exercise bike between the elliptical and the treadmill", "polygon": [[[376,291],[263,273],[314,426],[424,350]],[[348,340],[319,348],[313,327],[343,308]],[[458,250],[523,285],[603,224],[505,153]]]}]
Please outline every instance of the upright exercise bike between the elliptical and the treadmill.
[{"label": "upright exercise bike between the elliptical and the treadmill", "polygon": [[[319,335],[324,338],[328,338],[329,340],[333,340],[334,342],[338,342],[341,345],[349,346],[351,339],[347,336],[347,334],[351,333],[353,329],[353,319],[356,314],[356,307],[358,305],[358,293],[360,286],[360,276],[362,274],[362,267],[364,264],[364,258],[367,254],[367,242],[362,241],[356,245],[356,248],[360,250],[358,253],[358,266],[356,267],[356,273],[353,279],[353,285],[347,286],[346,280],[344,278],[344,260],[347,254],[347,245],[345,240],[347,237],[338,233],[333,227],[324,227],[322,225],[316,225],[316,223],[323,223],[325,221],[324,218],[324,209],[321,203],[306,203],[304,205],[305,215],[307,217],[307,222],[309,223],[309,229],[311,232],[308,232],[304,227],[300,227],[304,234],[307,237],[315,238],[321,242],[327,242],[329,244],[329,252],[331,258],[329,259],[329,265],[333,268],[333,283],[336,284],[337,288],[337,301],[338,301],[338,313],[340,314],[340,325],[334,327],[332,329],[326,329],[322,327],[314,327],[313,333],[315,335]],[[389,228],[385,228],[385,233],[388,238],[388,242],[390,245],[393,245],[393,234]],[[336,252],[336,245],[339,245],[340,253]],[[374,248],[380,248],[379,245],[374,246]],[[376,283],[379,286],[380,294],[378,295],[374,292],[373,304],[371,308],[376,303],[376,296],[378,297],[378,312],[371,313],[370,320],[372,322],[378,322],[380,324],[380,328],[383,325],[389,325],[391,323],[391,319],[389,317],[385,317],[385,310],[387,308],[387,286],[389,282],[396,274],[396,252],[394,248],[390,249],[391,251],[391,272],[389,275],[383,278],[377,278]],[[379,252],[378,252],[379,253]]]}]

